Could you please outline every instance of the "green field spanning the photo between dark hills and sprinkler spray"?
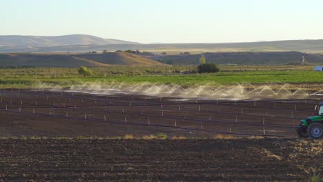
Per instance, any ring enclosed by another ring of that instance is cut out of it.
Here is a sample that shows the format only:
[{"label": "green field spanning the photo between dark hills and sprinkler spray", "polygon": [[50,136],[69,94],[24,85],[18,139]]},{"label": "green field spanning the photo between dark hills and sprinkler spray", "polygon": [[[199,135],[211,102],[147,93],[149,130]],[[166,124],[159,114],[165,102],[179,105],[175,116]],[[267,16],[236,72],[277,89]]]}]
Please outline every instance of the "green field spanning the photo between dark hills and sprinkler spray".
[{"label": "green field spanning the photo between dark hills and sprinkler spray", "polygon": [[[310,71],[311,68],[223,66],[222,72],[215,74],[170,73],[174,69],[193,70],[191,67],[90,68],[95,73],[92,77],[82,77],[77,74],[77,68],[2,68],[0,69],[0,88],[37,88],[41,84],[68,87],[85,82],[110,83],[113,81],[165,83],[183,86],[206,83],[221,85],[236,83],[323,83],[323,72]],[[119,71],[116,72],[116,70]]]}]

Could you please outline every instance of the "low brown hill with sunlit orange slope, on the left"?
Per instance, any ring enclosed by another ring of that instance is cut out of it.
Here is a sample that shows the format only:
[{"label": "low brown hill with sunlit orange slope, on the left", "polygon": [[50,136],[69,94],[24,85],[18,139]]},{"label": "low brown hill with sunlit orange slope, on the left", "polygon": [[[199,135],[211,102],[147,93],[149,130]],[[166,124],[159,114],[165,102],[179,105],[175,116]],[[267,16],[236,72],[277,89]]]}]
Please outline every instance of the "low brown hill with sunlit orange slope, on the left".
[{"label": "low brown hill with sunlit orange slope, on the left", "polygon": [[110,65],[164,65],[146,57],[118,51],[107,54],[0,54],[0,66],[79,67]]}]

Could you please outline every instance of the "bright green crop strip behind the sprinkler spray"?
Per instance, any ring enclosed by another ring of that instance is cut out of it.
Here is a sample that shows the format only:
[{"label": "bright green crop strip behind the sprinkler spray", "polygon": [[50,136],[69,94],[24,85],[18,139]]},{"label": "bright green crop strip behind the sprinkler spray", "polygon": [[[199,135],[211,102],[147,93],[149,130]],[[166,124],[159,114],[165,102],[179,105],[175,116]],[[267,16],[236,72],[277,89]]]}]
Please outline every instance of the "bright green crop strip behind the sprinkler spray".
[{"label": "bright green crop strip behind the sprinkler spray", "polygon": [[[166,69],[166,68],[165,68]],[[56,72],[57,71],[57,72]],[[165,70],[164,70],[165,71]],[[95,70],[93,70],[95,72]],[[121,72],[121,71],[120,71]],[[309,90],[321,90],[322,87],[313,88],[311,86],[321,84],[323,80],[322,72],[306,70],[247,70],[247,71],[222,71],[215,74],[173,74],[163,73],[158,70],[152,71],[154,74],[137,74],[136,70],[129,70],[120,74],[109,74],[108,71],[98,71],[92,77],[82,77],[77,74],[77,69],[45,69],[34,70],[34,68],[0,69],[0,88],[39,88],[43,85],[70,87],[83,83],[162,83],[173,85],[232,85],[237,83],[251,84],[284,84],[291,83],[295,87]],[[149,71],[150,72],[150,71]]]}]

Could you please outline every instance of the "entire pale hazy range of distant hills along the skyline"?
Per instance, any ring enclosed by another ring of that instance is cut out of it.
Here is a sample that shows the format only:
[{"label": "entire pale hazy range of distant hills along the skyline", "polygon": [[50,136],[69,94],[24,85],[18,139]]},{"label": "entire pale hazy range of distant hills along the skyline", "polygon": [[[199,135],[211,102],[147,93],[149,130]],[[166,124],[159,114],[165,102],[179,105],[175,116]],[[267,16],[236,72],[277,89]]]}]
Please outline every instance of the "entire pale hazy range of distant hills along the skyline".
[{"label": "entire pale hazy range of distant hills along the skyline", "polygon": [[146,50],[150,52],[311,52],[323,53],[323,39],[261,41],[244,43],[155,43],[141,44],[91,35],[0,36],[0,52],[89,52],[102,50]]}]

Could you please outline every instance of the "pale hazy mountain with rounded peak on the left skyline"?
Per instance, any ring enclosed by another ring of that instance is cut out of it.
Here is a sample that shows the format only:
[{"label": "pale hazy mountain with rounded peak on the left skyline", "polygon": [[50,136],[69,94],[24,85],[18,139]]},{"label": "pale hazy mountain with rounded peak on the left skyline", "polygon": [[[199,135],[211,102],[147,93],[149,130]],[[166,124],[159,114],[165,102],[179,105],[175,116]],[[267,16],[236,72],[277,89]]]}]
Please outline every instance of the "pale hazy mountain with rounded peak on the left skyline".
[{"label": "pale hazy mountain with rounded peak on the left skyline", "polygon": [[70,34],[63,36],[21,36],[1,35],[0,48],[34,48],[66,45],[108,45],[108,44],[138,44],[117,39],[103,39],[87,34]]}]

